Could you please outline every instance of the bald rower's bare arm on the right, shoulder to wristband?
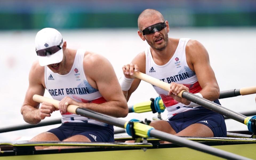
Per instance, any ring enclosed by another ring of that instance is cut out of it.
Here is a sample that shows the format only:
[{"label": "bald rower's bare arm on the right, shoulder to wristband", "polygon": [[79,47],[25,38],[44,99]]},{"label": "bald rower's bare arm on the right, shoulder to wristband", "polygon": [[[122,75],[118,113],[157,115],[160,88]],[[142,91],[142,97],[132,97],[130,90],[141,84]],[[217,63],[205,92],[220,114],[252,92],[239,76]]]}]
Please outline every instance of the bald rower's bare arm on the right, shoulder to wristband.
[{"label": "bald rower's bare arm on the right, shoulder to wristband", "polygon": [[187,63],[197,75],[202,88],[203,98],[214,101],[219,98],[219,86],[213,69],[210,66],[209,55],[205,47],[195,40],[190,40],[186,46]]}]

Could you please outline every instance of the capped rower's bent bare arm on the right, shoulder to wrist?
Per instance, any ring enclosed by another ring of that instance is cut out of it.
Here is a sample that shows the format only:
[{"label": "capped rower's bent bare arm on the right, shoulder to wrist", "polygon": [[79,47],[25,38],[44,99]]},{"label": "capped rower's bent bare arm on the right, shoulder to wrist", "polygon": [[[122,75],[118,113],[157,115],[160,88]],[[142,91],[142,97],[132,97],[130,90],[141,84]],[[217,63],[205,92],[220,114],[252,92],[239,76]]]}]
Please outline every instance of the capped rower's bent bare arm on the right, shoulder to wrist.
[{"label": "capped rower's bent bare arm on the right, shoulder to wrist", "polygon": [[79,106],[114,117],[126,117],[127,102],[111,63],[101,55],[91,54],[84,61],[84,71],[87,79],[90,79],[89,83],[96,83],[97,89],[107,102],[100,104],[78,102]]}]

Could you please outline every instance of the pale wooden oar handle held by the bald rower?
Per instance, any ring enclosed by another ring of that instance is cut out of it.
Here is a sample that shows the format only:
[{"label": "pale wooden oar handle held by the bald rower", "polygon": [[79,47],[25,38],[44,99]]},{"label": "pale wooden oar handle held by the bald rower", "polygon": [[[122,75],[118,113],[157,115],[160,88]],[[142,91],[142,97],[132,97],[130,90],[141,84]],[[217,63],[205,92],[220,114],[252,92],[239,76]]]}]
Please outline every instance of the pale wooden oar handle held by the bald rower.
[{"label": "pale wooden oar handle held by the bald rower", "polygon": [[[139,78],[145,82],[148,82],[154,86],[157,86],[163,90],[166,90],[169,92],[170,90],[170,84],[169,83],[165,83],[159,79],[156,79],[154,77],[151,77],[149,75],[146,75],[144,73],[141,73],[141,72],[133,72],[133,76],[136,77],[136,78]],[[182,98],[182,93],[184,92],[185,90],[182,90],[180,93],[178,93],[178,96]]]}]

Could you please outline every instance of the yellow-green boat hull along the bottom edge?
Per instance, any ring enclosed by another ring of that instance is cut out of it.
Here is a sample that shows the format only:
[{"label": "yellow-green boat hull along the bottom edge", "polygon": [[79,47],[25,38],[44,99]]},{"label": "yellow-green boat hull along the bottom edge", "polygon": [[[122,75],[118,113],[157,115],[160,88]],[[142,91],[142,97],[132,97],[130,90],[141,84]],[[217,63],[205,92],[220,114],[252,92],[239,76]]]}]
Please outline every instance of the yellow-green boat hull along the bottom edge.
[{"label": "yellow-green boat hull along the bottom edge", "polygon": [[[239,140],[238,140],[239,141]],[[256,157],[254,142],[202,142],[212,147],[239,154],[254,159]],[[215,145],[214,145],[215,144]],[[151,149],[144,151],[140,148],[129,147],[87,147],[61,150],[36,150],[27,151],[27,155],[15,155],[15,152],[2,151],[0,160],[63,160],[63,159],[104,159],[104,160],[131,160],[131,159],[222,159],[187,147],[179,147],[175,144],[155,144]]]}]

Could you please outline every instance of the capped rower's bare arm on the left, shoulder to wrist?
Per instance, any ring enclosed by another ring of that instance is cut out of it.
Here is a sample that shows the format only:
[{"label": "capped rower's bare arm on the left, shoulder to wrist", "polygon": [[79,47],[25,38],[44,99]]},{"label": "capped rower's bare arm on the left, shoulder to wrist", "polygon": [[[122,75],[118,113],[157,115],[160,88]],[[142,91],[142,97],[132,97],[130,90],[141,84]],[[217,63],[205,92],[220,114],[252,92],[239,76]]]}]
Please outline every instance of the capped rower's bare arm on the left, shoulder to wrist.
[{"label": "capped rower's bare arm on the left, shoulder to wrist", "polygon": [[[37,62],[38,63],[38,62]],[[21,114],[24,121],[30,124],[37,124],[41,121],[39,117],[39,103],[33,101],[34,94],[43,95],[45,88],[42,85],[44,68],[36,62],[33,63],[29,73],[29,88],[27,89],[24,103],[21,107]]]}]

